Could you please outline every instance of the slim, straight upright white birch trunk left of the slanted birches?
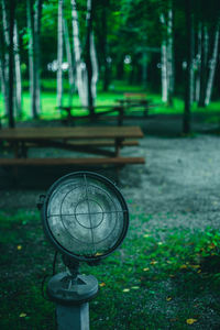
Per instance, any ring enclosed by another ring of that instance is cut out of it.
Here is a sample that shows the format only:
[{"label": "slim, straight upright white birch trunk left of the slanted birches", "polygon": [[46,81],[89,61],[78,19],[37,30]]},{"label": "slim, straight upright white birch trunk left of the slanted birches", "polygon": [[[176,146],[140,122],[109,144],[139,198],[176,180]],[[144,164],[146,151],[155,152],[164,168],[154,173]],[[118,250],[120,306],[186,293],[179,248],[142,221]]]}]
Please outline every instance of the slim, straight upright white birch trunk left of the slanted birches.
[{"label": "slim, straight upright white birch trunk left of the slanted birches", "polygon": [[63,0],[58,0],[58,31],[57,31],[57,107],[63,106]]}]

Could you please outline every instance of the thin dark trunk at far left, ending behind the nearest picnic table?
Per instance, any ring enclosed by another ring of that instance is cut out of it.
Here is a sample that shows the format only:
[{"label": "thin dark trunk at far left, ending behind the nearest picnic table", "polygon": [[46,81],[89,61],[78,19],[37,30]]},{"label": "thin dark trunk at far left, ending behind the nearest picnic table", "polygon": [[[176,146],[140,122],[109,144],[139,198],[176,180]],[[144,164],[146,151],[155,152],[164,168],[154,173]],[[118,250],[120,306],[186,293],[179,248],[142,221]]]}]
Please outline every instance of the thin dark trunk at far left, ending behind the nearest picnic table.
[{"label": "thin dark trunk at far left, ending behind the nearest picnic table", "polygon": [[13,90],[14,90],[14,54],[13,54],[13,31],[14,31],[15,0],[9,3],[9,127],[14,128]]}]

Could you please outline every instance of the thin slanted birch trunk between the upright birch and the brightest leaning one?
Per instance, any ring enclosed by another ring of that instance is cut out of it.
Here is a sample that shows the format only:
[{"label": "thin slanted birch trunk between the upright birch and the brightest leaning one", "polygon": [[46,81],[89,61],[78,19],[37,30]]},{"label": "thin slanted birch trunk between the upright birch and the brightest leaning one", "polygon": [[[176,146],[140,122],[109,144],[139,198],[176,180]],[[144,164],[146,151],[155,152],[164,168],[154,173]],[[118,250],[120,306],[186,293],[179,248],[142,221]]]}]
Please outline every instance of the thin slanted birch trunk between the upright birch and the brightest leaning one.
[{"label": "thin slanted birch trunk between the upright birch and the brightest leaning one", "polygon": [[75,85],[74,85],[75,79],[74,79],[74,65],[73,65],[73,57],[72,57],[72,46],[70,46],[70,41],[69,41],[68,25],[67,25],[67,21],[65,19],[63,22],[63,26],[64,26],[66,56],[67,56],[67,62],[68,62],[69,107],[72,107],[73,96],[74,96],[74,90],[75,90]]}]

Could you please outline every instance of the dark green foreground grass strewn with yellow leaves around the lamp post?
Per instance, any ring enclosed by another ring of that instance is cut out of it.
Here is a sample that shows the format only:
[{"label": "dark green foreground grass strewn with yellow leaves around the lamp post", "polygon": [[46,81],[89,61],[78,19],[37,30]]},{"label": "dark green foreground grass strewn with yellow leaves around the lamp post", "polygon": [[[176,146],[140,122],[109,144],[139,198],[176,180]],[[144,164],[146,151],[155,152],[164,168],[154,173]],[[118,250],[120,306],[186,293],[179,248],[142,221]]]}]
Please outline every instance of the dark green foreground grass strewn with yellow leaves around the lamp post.
[{"label": "dark green foreground grass strewn with yellow leaves around the lamp post", "polygon": [[[143,231],[153,217],[131,215],[121,249],[99,266],[81,265],[100,286],[90,302],[91,330],[219,329],[220,233],[210,228]],[[0,328],[55,329],[54,305],[41,289],[52,274],[54,250],[38,212],[1,211],[0,233]]]}]

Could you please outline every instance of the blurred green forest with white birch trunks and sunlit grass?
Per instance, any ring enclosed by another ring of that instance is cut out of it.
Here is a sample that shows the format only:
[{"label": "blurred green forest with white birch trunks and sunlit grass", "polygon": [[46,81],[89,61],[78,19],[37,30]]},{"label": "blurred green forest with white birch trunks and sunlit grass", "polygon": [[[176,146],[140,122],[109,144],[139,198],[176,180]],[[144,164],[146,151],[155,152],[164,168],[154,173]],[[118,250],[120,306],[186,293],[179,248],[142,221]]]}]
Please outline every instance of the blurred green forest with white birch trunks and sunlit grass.
[{"label": "blurred green forest with white birch trunks and sunlit grass", "polygon": [[219,110],[219,18],[217,0],[1,0],[0,114],[9,127],[64,106],[92,116],[145,91],[189,132],[191,109]]}]

